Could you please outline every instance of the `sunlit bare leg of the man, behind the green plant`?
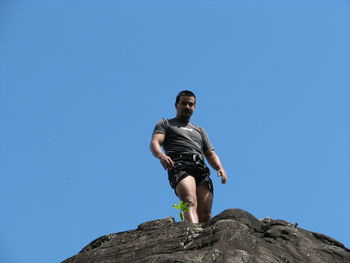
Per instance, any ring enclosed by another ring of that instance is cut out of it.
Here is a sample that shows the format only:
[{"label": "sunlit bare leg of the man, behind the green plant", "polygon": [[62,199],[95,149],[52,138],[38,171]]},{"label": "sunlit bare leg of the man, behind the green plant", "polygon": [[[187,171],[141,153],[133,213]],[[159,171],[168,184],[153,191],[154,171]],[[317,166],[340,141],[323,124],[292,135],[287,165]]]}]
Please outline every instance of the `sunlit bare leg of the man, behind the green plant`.
[{"label": "sunlit bare leg of the man, behind the green plant", "polygon": [[180,200],[188,203],[190,211],[184,212],[186,221],[198,223],[197,216],[197,194],[196,194],[196,180],[193,176],[186,176],[176,186],[176,193]]}]

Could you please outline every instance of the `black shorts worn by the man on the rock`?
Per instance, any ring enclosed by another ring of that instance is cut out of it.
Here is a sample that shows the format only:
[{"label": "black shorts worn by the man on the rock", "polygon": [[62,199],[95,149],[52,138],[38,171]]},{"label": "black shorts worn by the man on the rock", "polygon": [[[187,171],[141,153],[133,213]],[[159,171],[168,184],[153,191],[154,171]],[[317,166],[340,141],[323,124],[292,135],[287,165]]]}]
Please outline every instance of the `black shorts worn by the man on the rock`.
[{"label": "black shorts worn by the man on the rock", "polygon": [[[213,182],[210,179],[210,170],[205,165],[203,158],[197,154],[169,154],[170,158],[175,162],[173,169],[168,170],[168,179],[170,186],[174,189],[177,184],[187,176],[193,176],[196,185],[206,184],[209,191],[214,194]],[[176,191],[175,194],[177,195]]]}]

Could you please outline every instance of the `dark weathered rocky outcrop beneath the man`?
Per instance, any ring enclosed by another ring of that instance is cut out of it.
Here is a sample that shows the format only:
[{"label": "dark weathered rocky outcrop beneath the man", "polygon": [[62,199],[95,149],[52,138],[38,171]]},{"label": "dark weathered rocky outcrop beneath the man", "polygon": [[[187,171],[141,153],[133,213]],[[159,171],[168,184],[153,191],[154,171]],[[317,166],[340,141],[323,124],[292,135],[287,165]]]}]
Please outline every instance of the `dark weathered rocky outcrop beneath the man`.
[{"label": "dark weathered rocky outcrop beneath the man", "polygon": [[350,250],[323,234],[228,209],[206,224],[174,218],[96,239],[63,263],[349,263]]}]

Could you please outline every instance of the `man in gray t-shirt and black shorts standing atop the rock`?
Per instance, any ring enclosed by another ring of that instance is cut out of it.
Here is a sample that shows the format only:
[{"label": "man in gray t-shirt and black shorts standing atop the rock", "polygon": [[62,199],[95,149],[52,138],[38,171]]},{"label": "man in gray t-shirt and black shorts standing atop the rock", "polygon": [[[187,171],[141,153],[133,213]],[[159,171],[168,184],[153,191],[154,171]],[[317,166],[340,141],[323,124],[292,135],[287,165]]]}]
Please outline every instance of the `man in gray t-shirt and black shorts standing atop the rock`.
[{"label": "man in gray t-shirt and black shorts standing atop the rock", "polygon": [[185,220],[202,223],[210,220],[213,201],[213,183],[203,155],[217,170],[223,184],[227,175],[205,130],[190,123],[195,105],[193,92],[181,91],[175,102],[176,117],[157,123],[150,147],[153,155],[168,170],[168,179],[175,194],[189,204],[190,210],[184,212]]}]

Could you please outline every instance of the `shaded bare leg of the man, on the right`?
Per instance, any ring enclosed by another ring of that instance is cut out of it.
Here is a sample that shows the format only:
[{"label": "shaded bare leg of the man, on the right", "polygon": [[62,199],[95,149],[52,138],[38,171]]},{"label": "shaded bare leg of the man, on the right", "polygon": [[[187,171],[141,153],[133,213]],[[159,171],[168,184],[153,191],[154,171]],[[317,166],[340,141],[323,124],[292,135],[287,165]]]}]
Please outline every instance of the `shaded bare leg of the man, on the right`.
[{"label": "shaded bare leg of the man, on the right", "polygon": [[213,194],[209,191],[207,184],[197,186],[197,215],[198,222],[208,222],[211,218],[211,207]]}]

